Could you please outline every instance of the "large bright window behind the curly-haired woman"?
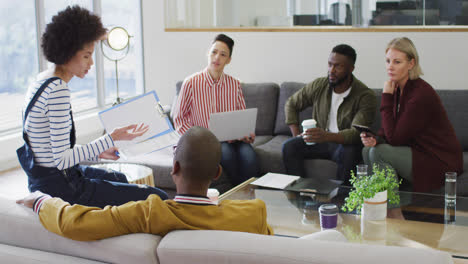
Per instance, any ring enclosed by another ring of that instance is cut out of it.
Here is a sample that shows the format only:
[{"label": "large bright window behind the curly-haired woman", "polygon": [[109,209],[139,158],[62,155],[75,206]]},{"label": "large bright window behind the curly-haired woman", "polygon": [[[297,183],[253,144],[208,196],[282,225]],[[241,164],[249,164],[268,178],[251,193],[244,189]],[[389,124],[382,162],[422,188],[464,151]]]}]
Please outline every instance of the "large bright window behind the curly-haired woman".
[{"label": "large bright window behind the curly-haired woman", "polygon": [[[119,96],[128,99],[144,92],[140,1],[43,0],[18,4],[0,0],[0,21],[4,25],[0,28],[0,104],[3,106],[0,133],[21,127],[28,85],[40,71],[52,66],[42,55],[38,56],[42,33],[38,36],[37,32],[44,32],[45,25],[58,11],[75,4],[99,14],[104,27],[121,26],[129,32],[132,36],[129,53],[118,64]],[[102,56],[98,46],[91,71],[85,78],[75,77],[68,84],[76,114],[104,107],[116,98],[115,64]]]}]

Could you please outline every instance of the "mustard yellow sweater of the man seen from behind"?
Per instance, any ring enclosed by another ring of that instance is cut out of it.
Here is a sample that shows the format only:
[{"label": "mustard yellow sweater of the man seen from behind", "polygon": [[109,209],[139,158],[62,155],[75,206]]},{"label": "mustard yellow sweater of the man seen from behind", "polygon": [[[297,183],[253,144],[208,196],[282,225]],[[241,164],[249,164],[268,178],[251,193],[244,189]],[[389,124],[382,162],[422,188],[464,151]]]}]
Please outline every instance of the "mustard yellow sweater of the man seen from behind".
[{"label": "mustard yellow sweater of the man seen from behind", "polygon": [[265,203],[255,200],[225,200],[219,205],[162,201],[150,195],[144,201],[104,209],[48,199],[39,212],[49,231],[74,240],[90,241],[130,233],[164,236],[172,230],[228,230],[272,235],[266,222]]}]

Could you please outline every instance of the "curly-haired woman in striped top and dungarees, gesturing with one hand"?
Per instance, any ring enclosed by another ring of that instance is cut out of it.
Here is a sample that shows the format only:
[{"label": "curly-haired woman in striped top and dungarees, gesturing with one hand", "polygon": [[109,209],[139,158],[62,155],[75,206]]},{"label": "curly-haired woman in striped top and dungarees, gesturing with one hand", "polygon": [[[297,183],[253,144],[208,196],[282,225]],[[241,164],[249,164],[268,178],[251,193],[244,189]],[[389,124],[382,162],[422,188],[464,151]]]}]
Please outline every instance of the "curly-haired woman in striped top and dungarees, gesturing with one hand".
[{"label": "curly-haired woman in striped top and dungarees, gesturing with one hand", "polygon": [[86,145],[75,144],[67,83],[88,73],[95,42],[105,34],[100,17],[79,6],[67,7],[46,26],[41,47],[54,67],[40,73],[28,88],[23,114],[25,145],[18,149],[28,188],[71,204],[97,207],[145,200],[150,194],[167,199],[160,189],[128,184],[124,174],[79,164],[99,158],[117,160],[114,141],[132,140],[148,130],[147,126],[133,124]]}]

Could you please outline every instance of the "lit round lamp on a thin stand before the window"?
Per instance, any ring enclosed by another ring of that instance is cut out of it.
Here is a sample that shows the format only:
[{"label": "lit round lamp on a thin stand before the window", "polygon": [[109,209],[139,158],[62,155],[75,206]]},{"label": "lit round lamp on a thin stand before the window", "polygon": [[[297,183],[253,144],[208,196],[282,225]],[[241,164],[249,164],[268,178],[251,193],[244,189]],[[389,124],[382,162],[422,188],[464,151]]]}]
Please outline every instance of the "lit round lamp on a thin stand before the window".
[{"label": "lit round lamp on a thin stand before the window", "polygon": [[122,98],[119,96],[119,71],[117,63],[127,56],[130,50],[130,35],[123,27],[114,27],[107,38],[101,41],[101,48],[104,57],[115,63],[116,99],[113,105],[120,104]]}]

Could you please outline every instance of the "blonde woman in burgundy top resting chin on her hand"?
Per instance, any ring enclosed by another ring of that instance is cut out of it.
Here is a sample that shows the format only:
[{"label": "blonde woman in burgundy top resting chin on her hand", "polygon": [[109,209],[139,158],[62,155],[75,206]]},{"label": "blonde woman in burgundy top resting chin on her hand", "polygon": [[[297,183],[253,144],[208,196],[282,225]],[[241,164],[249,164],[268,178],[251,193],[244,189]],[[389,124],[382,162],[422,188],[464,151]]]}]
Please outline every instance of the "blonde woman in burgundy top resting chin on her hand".
[{"label": "blonde woman in burgundy top resting chin on her hand", "polygon": [[463,154],[436,91],[419,78],[419,56],[408,38],[393,39],[386,49],[385,82],[376,136],[361,133],[364,162],[388,165],[428,192],[444,184],[445,172],[463,171]]}]

